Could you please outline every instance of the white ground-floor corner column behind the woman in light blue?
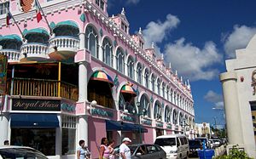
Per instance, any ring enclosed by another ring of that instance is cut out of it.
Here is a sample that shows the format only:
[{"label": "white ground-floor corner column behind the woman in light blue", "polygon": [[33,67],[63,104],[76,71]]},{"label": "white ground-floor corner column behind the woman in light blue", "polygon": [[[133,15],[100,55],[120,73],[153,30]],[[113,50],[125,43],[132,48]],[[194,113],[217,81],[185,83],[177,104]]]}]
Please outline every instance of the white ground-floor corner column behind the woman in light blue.
[{"label": "white ground-floor corner column behind the woman in light blue", "polygon": [[88,145],[88,117],[79,116],[79,140],[84,139],[85,145]]}]

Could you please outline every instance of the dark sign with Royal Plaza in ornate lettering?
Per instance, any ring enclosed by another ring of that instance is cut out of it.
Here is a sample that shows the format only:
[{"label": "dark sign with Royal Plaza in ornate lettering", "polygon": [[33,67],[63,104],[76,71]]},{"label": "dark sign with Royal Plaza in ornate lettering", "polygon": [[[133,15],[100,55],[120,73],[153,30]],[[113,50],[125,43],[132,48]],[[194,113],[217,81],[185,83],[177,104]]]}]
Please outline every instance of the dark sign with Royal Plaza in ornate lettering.
[{"label": "dark sign with Royal Plaza in ornate lettering", "polygon": [[13,99],[12,111],[61,111],[61,100]]}]

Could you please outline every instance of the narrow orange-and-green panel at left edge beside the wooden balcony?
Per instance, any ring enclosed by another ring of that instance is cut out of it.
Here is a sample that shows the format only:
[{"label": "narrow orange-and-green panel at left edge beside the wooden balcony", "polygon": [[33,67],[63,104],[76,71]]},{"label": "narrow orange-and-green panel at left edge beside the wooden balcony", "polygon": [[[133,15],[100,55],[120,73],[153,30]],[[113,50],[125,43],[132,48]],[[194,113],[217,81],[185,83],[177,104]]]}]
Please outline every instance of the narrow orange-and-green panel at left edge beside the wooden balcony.
[{"label": "narrow orange-and-green panel at left edge beside the wooden balcony", "polygon": [[7,61],[7,56],[0,54],[0,94],[5,94],[6,92]]}]

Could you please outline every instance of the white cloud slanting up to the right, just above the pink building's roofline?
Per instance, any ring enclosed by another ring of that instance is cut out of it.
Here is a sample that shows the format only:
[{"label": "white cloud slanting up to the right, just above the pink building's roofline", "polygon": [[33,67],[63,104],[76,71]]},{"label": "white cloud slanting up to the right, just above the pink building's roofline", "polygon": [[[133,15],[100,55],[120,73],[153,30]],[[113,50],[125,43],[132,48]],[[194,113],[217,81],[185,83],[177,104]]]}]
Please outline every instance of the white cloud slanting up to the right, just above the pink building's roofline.
[{"label": "white cloud slanting up to the right, just above the pink building's roofline", "polygon": [[160,20],[157,22],[150,21],[146,26],[146,29],[143,30],[146,48],[150,47],[153,42],[155,44],[155,48],[160,50],[160,48],[157,47],[157,43],[162,43],[169,32],[176,28],[179,23],[180,20],[178,20],[177,16],[172,14],[167,14],[164,22],[161,22]]}]

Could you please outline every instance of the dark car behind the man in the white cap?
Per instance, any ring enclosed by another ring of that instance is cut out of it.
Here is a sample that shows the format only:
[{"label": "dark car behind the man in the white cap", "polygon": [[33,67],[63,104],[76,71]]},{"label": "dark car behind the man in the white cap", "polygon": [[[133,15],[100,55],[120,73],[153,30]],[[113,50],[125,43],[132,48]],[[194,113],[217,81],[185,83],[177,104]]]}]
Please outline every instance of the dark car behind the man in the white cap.
[{"label": "dark car behind the man in the white cap", "polygon": [[[131,150],[131,159],[166,159],[166,152],[159,145],[136,144],[128,145]],[[114,148],[116,159],[119,159],[119,146]]]}]

